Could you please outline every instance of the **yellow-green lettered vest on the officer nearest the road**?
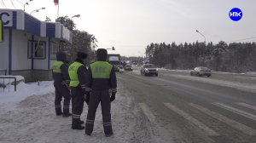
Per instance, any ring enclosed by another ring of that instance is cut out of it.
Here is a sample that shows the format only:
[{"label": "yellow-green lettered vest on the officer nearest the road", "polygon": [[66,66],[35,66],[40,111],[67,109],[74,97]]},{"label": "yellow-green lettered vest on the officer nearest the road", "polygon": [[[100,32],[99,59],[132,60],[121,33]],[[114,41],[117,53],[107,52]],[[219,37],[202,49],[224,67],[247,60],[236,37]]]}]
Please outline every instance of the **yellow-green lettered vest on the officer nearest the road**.
[{"label": "yellow-green lettered vest on the officer nearest the road", "polygon": [[107,61],[96,61],[90,64],[92,78],[109,78],[113,66]]}]

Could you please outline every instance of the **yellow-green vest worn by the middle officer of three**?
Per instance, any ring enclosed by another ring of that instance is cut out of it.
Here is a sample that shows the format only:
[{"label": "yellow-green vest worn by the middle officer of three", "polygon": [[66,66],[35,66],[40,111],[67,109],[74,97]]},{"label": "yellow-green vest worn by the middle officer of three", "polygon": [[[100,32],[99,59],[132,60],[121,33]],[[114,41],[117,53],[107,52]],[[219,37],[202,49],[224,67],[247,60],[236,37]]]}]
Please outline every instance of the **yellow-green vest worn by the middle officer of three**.
[{"label": "yellow-green vest worn by the middle officer of three", "polygon": [[83,64],[75,61],[68,67],[68,75],[70,77],[70,87],[77,87],[79,85],[79,76],[78,69],[80,66],[84,66]]}]

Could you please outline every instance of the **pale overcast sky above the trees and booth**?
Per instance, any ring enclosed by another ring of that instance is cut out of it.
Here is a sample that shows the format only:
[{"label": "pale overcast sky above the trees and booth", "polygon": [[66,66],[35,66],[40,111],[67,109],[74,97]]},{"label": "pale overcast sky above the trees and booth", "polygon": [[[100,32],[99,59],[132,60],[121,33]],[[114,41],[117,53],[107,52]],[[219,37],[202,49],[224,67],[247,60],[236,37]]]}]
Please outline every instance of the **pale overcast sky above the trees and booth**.
[{"label": "pale overcast sky above the trees and booth", "polygon": [[[14,5],[11,3],[13,2]],[[20,0],[26,3],[27,0]],[[0,9],[23,9],[17,0],[1,0]],[[59,0],[60,16],[72,17],[80,31],[95,35],[99,48],[114,46],[122,55],[144,55],[149,43],[230,42],[256,37],[255,0]],[[39,20],[57,17],[54,0],[33,0],[26,12]],[[240,21],[232,21],[230,9],[239,8]],[[256,38],[248,39],[254,40]],[[246,40],[245,40],[246,41]],[[244,42],[244,41],[242,41]]]}]

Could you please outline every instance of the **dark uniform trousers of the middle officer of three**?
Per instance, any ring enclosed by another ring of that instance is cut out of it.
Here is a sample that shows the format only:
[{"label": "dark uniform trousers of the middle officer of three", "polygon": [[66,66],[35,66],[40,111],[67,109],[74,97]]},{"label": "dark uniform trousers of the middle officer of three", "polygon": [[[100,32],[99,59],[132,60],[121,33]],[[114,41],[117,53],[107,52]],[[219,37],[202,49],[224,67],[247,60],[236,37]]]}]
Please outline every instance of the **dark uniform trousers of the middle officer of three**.
[{"label": "dark uniform trousers of the middle officer of three", "polygon": [[79,125],[84,108],[84,94],[81,88],[71,87],[73,126]]}]

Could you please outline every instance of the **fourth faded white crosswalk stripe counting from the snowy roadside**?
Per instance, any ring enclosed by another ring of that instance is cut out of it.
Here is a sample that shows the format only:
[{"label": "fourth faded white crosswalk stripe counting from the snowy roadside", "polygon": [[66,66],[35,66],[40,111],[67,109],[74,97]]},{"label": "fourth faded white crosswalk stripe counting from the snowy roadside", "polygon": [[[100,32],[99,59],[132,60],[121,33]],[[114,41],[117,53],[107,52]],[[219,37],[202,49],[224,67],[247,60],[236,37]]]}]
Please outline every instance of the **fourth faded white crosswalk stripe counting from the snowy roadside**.
[{"label": "fourth faded white crosswalk stripe counting from the snowy roadside", "polygon": [[218,102],[212,103],[212,104],[215,105],[215,106],[224,108],[224,109],[226,109],[226,110],[228,110],[228,111],[230,111],[230,112],[235,112],[236,114],[239,114],[239,115],[241,115],[241,116],[243,116],[243,117],[247,117],[247,118],[250,118],[250,119],[253,119],[253,120],[256,121],[256,116],[253,115],[253,114],[251,114],[251,113],[244,112],[244,111],[241,111],[241,110],[236,109],[236,108],[234,108],[234,107],[226,106],[226,105],[224,105],[224,104],[222,104],[222,103],[218,103]]}]

